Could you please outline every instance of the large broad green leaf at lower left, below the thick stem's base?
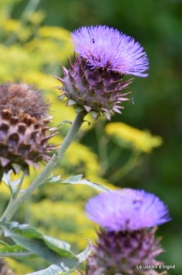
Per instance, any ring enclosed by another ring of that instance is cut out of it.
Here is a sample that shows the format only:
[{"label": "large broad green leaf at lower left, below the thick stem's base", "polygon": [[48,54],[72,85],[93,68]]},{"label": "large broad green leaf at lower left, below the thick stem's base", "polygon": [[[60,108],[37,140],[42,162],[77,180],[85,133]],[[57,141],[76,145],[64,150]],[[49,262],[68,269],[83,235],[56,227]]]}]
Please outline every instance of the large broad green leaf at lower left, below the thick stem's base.
[{"label": "large broad green leaf at lower left, below the thick stem's base", "polygon": [[64,249],[68,248],[64,242],[58,241],[56,246],[56,239],[43,236],[36,229],[27,227],[27,224],[0,222],[0,227],[3,229],[4,235],[13,239],[18,246],[52,264],[57,264],[64,271],[78,267],[78,258],[69,250]]}]

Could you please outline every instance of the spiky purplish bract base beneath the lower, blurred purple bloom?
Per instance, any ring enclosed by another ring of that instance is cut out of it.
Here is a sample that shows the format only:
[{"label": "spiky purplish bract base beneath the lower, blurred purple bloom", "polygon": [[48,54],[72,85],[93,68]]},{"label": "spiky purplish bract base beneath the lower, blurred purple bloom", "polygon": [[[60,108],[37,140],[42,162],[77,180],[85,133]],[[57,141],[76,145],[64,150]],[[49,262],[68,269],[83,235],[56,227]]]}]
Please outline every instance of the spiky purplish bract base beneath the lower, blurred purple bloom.
[{"label": "spiky purplish bract base beneath the lower, blurred purple bloom", "polygon": [[155,257],[162,253],[155,228],[134,232],[97,232],[96,245],[87,258],[86,275],[156,275],[152,268],[162,264]]}]

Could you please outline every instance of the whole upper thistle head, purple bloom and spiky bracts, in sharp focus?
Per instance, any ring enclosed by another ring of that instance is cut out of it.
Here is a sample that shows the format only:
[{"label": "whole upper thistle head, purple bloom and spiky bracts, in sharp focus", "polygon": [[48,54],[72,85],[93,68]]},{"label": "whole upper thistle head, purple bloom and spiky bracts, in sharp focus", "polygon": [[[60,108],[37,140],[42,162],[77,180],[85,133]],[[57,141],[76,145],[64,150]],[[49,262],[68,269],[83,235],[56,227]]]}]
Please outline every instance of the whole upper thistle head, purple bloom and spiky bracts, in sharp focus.
[{"label": "whole upper thistle head, purple bloom and spiky bracts, in sharp focus", "polygon": [[120,103],[127,100],[123,90],[131,79],[123,81],[125,74],[147,76],[146,53],[130,36],[106,26],[81,27],[71,34],[75,47],[74,63],[69,60],[69,70],[62,67],[64,78],[59,88],[74,105],[76,112],[91,112],[94,119],[104,114],[111,119],[113,112],[120,113]]}]

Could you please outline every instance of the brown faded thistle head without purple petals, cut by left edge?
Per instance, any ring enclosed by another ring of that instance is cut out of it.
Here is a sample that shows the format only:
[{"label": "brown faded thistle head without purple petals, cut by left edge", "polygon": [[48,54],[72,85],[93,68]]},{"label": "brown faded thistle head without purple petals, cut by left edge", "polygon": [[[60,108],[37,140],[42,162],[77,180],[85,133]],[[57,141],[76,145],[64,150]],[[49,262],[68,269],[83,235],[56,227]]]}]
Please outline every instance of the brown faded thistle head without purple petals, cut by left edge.
[{"label": "brown faded thistle head without purple petals, cut by left edge", "polygon": [[29,174],[29,165],[48,161],[56,133],[48,130],[50,104],[41,90],[25,83],[0,85],[0,170]]}]

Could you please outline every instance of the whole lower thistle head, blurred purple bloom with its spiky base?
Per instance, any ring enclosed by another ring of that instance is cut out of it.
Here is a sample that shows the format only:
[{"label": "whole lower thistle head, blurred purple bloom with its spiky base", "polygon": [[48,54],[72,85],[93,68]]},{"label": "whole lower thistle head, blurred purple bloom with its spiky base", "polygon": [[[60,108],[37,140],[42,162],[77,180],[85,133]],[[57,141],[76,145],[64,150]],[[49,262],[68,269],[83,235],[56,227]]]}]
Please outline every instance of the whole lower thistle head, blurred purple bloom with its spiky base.
[{"label": "whole lower thistle head, blurred purple bloom with its spiky base", "polygon": [[155,275],[163,250],[156,225],[170,220],[165,204],[153,194],[133,189],[90,199],[88,217],[100,226],[86,275]]}]

